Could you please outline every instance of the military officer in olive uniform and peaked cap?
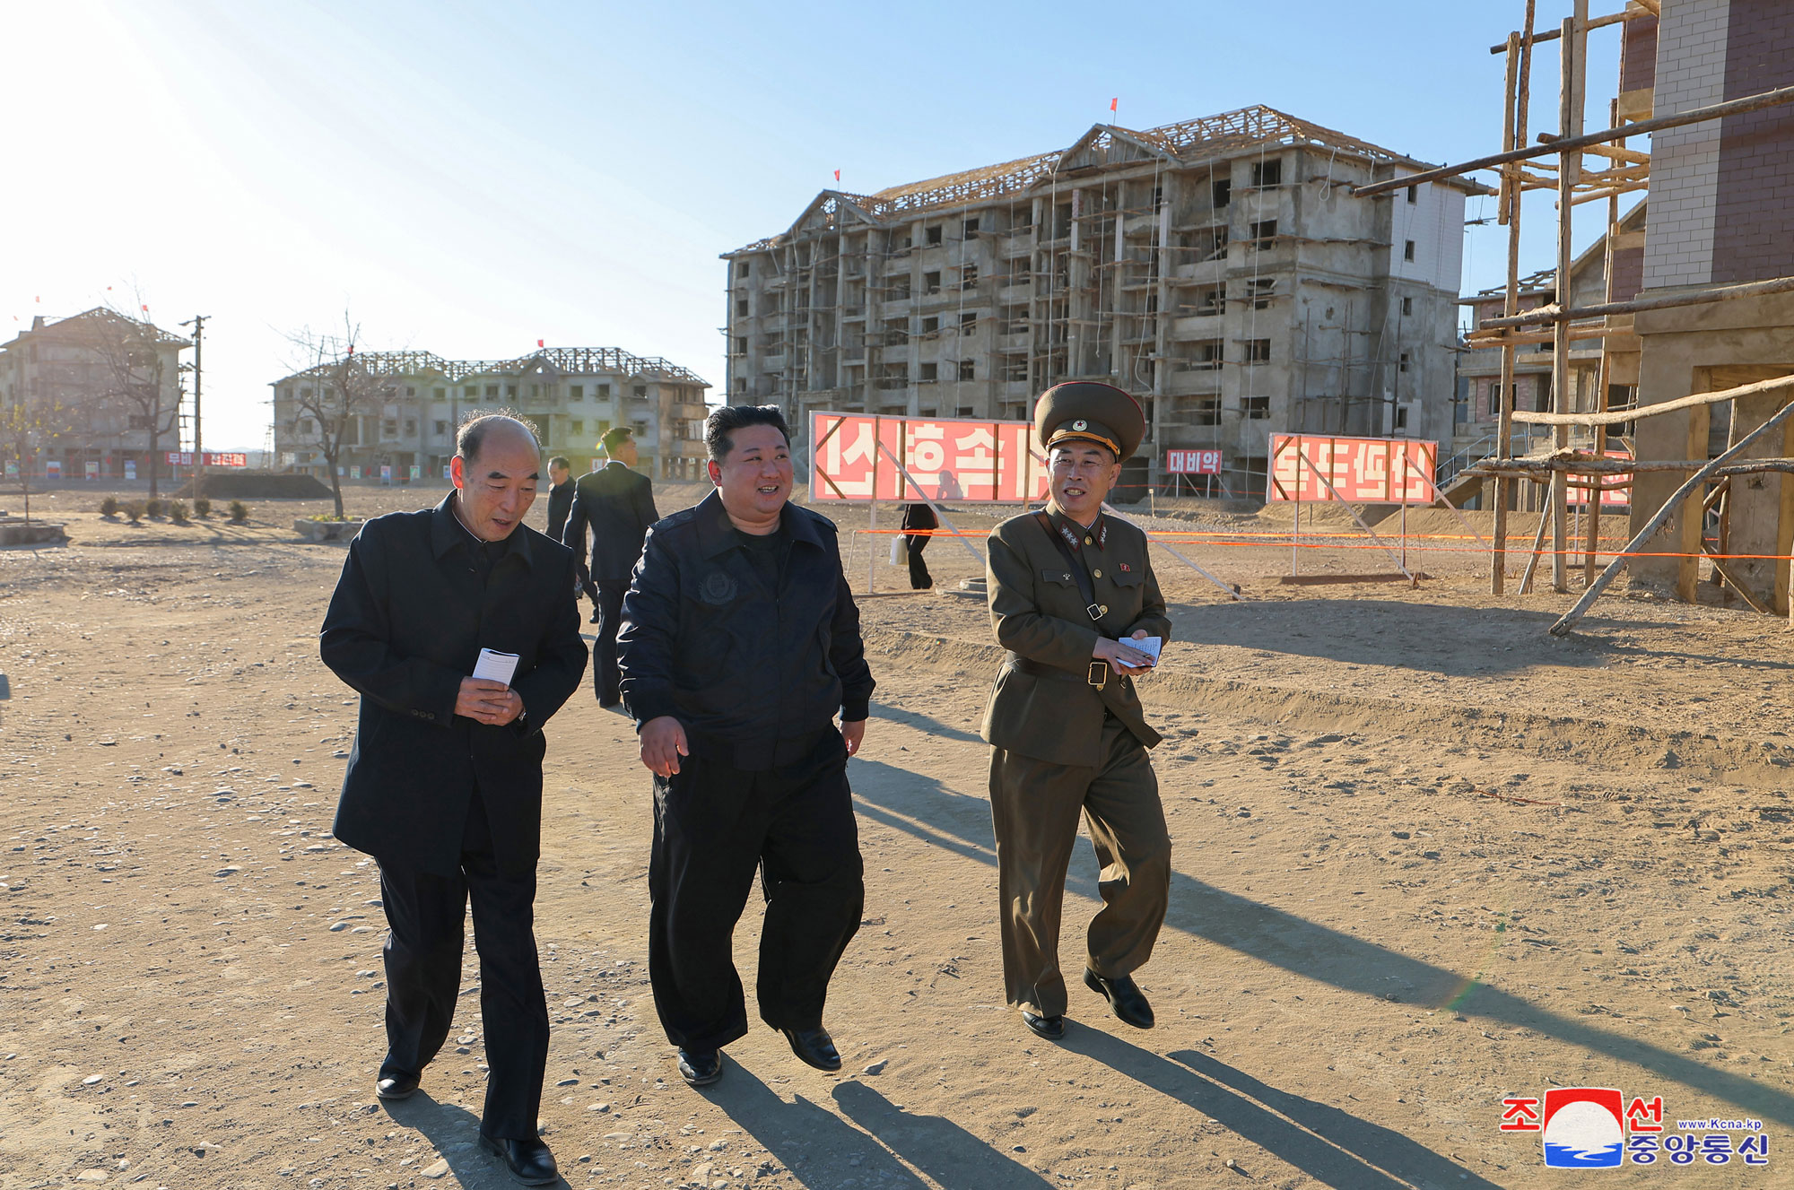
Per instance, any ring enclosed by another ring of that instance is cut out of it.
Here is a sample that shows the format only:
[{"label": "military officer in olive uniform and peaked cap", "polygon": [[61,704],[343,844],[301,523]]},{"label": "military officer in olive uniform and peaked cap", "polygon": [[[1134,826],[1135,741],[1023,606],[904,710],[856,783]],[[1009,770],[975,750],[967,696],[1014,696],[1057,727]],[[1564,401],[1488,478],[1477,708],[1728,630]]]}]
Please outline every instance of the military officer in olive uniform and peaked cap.
[{"label": "military officer in olive uniform and peaked cap", "polygon": [[990,534],[990,624],[1008,658],[985,706],[990,817],[997,837],[1003,980],[1035,1034],[1066,1034],[1058,921],[1066,869],[1089,823],[1103,909],[1089,927],[1084,982],[1114,1014],[1152,1027],[1132,973],[1164,921],[1171,841],[1146,749],[1159,733],[1134,692],[1170,620],[1146,534],[1103,514],[1145,435],[1139,403],[1107,384],[1060,384],[1035,405],[1049,500]]}]

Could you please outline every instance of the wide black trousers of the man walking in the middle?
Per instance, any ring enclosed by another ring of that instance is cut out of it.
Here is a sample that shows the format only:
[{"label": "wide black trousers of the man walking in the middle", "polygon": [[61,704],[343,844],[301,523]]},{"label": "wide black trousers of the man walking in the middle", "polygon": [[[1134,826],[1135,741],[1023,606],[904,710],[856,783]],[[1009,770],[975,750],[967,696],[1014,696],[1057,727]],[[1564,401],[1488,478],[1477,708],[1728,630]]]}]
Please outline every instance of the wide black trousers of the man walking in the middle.
[{"label": "wide black trousers of the man walking in the middle", "polygon": [[673,778],[655,778],[648,980],[660,1025],[682,1048],[746,1036],[730,939],[757,866],[761,1020],[813,1029],[867,900],[841,735],[823,731],[807,755],[764,772],[692,753]]}]

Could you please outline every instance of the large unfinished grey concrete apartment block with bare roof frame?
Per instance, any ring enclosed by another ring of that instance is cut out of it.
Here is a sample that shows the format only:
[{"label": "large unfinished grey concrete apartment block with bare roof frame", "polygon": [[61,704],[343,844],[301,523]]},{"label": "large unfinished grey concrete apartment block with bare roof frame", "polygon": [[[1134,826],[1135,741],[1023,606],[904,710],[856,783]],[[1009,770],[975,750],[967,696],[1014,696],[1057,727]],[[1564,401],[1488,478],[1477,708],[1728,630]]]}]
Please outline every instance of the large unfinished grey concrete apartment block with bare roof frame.
[{"label": "large unfinished grey concrete apartment block with bare roof frame", "polygon": [[1349,186],[1428,168],[1270,108],[879,194],[825,190],[728,260],[728,400],[1028,418],[1060,380],[1136,392],[1148,439],[1220,448],[1263,495],[1272,432],[1451,434],[1466,194]]}]

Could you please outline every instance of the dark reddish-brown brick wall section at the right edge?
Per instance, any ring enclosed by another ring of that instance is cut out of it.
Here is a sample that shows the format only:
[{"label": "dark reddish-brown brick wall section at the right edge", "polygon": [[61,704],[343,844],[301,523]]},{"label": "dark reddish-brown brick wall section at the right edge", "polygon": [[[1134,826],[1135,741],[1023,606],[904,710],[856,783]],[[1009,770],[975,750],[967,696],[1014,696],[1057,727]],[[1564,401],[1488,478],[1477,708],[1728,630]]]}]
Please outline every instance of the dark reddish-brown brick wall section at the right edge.
[{"label": "dark reddish-brown brick wall section at the right edge", "polygon": [[[1731,0],[1726,99],[1794,84],[1794,5]],[[1794,108],[1720,122],[1711,280],[1794,276]],[[1652,215],[1656,203],[1652,203]]]}]

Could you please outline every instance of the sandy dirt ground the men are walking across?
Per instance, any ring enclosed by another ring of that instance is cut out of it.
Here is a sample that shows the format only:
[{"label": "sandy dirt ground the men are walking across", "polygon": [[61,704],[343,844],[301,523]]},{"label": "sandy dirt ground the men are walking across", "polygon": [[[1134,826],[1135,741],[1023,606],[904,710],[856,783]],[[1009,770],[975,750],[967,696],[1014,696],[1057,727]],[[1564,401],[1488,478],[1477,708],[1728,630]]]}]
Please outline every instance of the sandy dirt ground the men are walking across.
[{"label": "sandy dirt ground the men are walking across", "polygon": [[[698,495],[660,486],[660,509]],[[355,699],[316,647],[343,547],[291,529],[323,505],[129,527],[95,504],[34,496],[72,543],[0,550],[0,1188],[509,1185],[475,1147],[472,952],[423,1091],[373,1099],[386,927],[373,864],[328,833]],[[1177,638],[1143,695],[1175,875],[1150,1032],[1076,980],[1062,1045],[1001,1002],[976,735],[999,654],[951,593],[981,572],[960,543],[927,550],[949,590],[913,595],[886,536],[843,538],[877,586],[879,688],[850,763],[868,889],[829,1002],[841,1075],[755,1027],[721,1082],[680,1082],[633,731],[587,690],[554,717],[542,1122],[569,1185],[1563,1185],[1539,1133],[1500,1127],[1503,1099],[1554,1086],[1661,1097],[1661,1136],[1767,1138],[1762,1167],[1663,1152],[1611,1179],[1789,1185],[1785,622],[1620,595],[1555,640],[1572,597],[1494,600],[1442,538],[1414,541],[1419,590],[1279,586],[1288,541],[1243,536],[1268,516],[1191,516],[1150,523],[1245,541],[1170,539],[1245,600],[1155,547]],[[1313,545],[1302,572],[1392,568],[1363,538]],[[1094,867],[1080,846],[1073,973]],[[757,930],[750,905],[750,980]]]}]

